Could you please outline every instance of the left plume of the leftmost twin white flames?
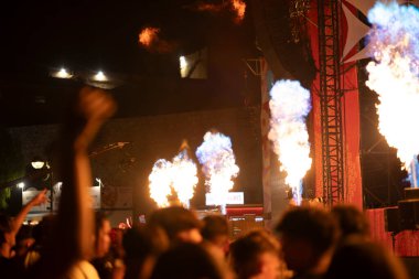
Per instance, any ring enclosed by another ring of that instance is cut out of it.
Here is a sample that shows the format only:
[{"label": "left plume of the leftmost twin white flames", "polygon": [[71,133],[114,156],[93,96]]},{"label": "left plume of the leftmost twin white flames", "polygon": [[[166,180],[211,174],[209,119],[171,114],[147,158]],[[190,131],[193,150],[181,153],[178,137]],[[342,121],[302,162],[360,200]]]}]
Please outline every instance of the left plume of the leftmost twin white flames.
[{"label": "left plume of the leftmost twin white flames", "polygon": [[171,167],[171,162],[160,159],[154,163],[149,175],[150,197],[154,200],[159,207],[169,206],[169,196],[172,191]]}]

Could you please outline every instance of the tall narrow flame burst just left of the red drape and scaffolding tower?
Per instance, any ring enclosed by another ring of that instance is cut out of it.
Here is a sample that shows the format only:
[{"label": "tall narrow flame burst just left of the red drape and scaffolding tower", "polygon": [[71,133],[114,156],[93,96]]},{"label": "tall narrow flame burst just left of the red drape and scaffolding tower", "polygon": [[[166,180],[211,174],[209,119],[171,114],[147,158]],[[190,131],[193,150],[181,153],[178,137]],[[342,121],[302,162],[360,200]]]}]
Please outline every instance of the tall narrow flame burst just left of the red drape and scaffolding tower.
[{"label": "tall narrow flame burst just left of the red drape and scaffolding tower", "polygon": [[301,203],[301,181],[311,168],[309,133],[305,117],[310,112],[310,92],[299,82],[279,81],[270,90],[271,111],[269,139],[287,172],[286,183],[292,189],[293,200]]}]

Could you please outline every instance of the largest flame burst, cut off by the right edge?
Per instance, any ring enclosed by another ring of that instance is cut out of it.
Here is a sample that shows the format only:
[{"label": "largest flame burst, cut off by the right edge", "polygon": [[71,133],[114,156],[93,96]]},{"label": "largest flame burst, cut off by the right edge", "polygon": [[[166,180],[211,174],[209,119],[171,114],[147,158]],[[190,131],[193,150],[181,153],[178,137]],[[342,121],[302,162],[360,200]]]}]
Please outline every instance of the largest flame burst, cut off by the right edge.
[{"label": "largest flame burst, cut off by the right edge", "polygon": [[368,20],[372,55],[366,85],[378,94],[378,129],[409,171],[419,153],[419,11],[376,3]]}]

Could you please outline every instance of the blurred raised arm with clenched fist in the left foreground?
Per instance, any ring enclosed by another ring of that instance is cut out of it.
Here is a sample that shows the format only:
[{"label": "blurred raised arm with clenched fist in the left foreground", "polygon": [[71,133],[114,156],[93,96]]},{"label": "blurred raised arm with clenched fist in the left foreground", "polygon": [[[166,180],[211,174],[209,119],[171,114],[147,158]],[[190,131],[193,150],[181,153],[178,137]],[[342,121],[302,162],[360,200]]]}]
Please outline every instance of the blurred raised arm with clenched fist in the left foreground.
[{"label": "blurred raised arm with clenched fist in the left foreground", "polygon": [[57,276],[93,255],[94,219],[88,193],[93,181],[88,146],[116,110],[110,96],[100,89],[83,88],[77,97],[72,116],[64,127],[58,154],[63,191],[49,255]]}]

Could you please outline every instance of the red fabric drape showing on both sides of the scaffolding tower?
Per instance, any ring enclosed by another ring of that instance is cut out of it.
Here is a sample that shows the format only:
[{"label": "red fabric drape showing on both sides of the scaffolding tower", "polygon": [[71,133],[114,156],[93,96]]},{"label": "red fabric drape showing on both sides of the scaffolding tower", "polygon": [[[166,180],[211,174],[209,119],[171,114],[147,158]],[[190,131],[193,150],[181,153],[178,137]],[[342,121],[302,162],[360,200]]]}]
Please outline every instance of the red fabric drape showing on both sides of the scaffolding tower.
[{"label": "red fabric drape showing on both sides of the scaffolding tower", "polygon": [[[311,1],[311,9],[309,12],[310,22],[308,23],[308,31],[311,41],[312,56],[315,65],[319,68],[319,33],[318,26],[318,12],[316,1]],[[342,17],[341,30],[341,46],[343,46],[344,37],[346,35],[346,21]],[[340,57],[336,57],[340,58]],[[359,164],[359,103],[358,103],[358,88],[357,88],[357,68],[353,63],[342,65],[341,73],[342,85],[345,93],[342,97],[342,125],[344,133],[344,180],[345,180],[345,202],[354,204],[362,208],[362,179],[361,179],[361,164]],[[322,131],[321,131],[321,111],[320,111],[320,97],[319,97],[319,73],[312,85],[312,101],[313,101],[313,138],[314,142],[314,169],[315,169],[315,195],[323,195],[323,181],[322,181]]]}]

